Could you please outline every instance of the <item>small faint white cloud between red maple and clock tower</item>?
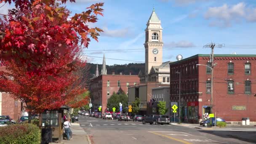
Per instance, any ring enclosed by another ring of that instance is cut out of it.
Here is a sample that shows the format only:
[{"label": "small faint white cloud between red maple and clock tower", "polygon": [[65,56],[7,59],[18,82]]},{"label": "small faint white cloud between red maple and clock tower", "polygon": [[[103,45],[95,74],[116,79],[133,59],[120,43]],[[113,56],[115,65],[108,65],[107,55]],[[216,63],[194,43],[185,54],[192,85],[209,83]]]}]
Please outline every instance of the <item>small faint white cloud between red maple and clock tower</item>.
[{"label": "small faint white cloud between red maple and clock tower", "polygon": [[113,29],[110,30],[107,27],[102,28],[104,32],[101,33],[102,36],[107,36],[107,37],[126,37],[128,35],[131,35],[131,29],[128,27],[123,28],[123,29]]}]

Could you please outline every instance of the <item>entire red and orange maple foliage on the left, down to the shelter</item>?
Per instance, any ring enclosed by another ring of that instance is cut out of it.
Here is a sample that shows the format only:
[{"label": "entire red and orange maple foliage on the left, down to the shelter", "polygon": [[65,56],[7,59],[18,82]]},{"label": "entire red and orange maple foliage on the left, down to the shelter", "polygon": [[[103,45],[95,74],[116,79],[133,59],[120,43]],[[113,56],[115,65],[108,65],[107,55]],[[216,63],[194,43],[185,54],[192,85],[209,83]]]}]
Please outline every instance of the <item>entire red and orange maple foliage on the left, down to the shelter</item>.
[{"label": "entire red and orange maple foliage on the left, down to the shelter", "polygon": [[16,6],[0,19],[0,64],[6,68],[0,88],[26,103],[29,114],[88,102],[80,96],[87,89],[79,55],[88,47],[88,36],[98,40],[102,32],[87,24],[103,15],[103,3],[70,17],[58,1],[67,0],[0,0]]}]

